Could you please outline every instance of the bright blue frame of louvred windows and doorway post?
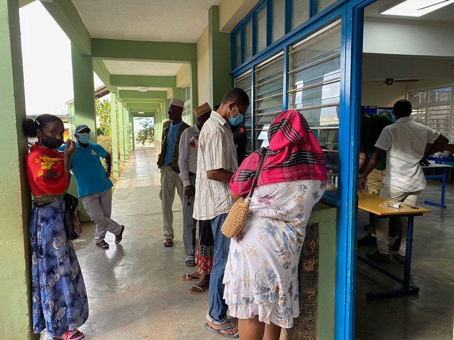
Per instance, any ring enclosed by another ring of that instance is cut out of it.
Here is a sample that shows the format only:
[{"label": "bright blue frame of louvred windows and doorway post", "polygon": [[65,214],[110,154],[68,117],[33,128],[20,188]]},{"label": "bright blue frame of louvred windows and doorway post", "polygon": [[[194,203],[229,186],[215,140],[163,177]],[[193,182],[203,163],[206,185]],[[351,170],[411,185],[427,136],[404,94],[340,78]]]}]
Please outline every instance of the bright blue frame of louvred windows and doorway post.
[{"label": "bright blue frame of louvred windows and doorway post", "polygon": [[[291,46],[307,38],[309,35],[332,24],[339,18],[341,22],[341,48],[338,56],[340,66],[338,88],[338,190],[329,191],[324,200],[336,205],[337,232],[336,232],[336,278],[335,278],[335,317],[334,338],[354,338],[354,306],[355,306],[355,279],[356,279],[356,222],[357,222],[357,194],[358,182],[358,155],[359,155],[359,107],[361,105],[361,62],[363,44],[363,13],[364,8],[376,0],[310,0],[309,19],[300,26],[291,28],[292,3],[285,1],[285,35],[272,38],[273,22],[272,0],[260,0],[233,30],[244,32],[244,25],[250,17],[267,4],[267,42],[268,46],[257,53],[253,53],[248,60],[238,64],[232,59],[232,77],[249,72],[251,113],[251,148],[255,146],[256,136],[255,112],[258,108],[256,88],[256,67],[269,60],[280,51],[283,51],[282,60],[282,110],[290,105],[289,83]],[[270,18],[271,16],[271,18]],[[244,39],[244,38],[242,38]],[[256,41],[253,41],[256,43]],[[236,48],[236,46],[234,46]],[[254,49],[255,47],[253,47]],[[254,49],[254,51],[257,51]],[[260,71],[260,67],[259,70]],[[336,78],[336,77],[334,77]],[[260,81],[260,80],[259,80]]]}]

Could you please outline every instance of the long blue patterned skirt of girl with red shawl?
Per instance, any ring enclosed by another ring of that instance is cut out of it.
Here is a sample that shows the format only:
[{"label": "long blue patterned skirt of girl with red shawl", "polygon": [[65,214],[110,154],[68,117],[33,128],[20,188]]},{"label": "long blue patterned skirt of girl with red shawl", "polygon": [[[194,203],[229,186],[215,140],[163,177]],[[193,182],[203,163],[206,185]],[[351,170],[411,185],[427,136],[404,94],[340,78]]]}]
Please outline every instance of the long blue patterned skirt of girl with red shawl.
[{"label": "long blue patterned skirt of girl with red shawl", "polygon": [[74,330],[88,318],[84,278],[63,217],[65,200],[34,207],[30,216],[33,331],[47,336]]}]

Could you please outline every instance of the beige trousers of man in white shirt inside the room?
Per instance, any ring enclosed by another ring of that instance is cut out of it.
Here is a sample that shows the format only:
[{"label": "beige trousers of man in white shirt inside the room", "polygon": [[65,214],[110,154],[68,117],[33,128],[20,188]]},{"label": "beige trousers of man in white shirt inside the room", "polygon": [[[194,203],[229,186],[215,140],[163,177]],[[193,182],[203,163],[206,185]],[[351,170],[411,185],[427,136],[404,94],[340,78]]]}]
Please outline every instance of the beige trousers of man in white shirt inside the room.
[{"label": "beige trousers of man in white shirt inside the room", "polygon": [[[399,200],[400,202],[407,203],[410,206],[415,206],[418,202],[419,194],[422,190],[414,192],[405,192],[390,186],[389,184],[383,184],[383,189],[380,192],[381,197],[391,198]],[[389,219],[376,219],[375,228],[377,235],[377,247],[380,254],[389,253],[389,239],[388,239],[388,222]],[[407,228],[408,228],[408,217],[401,217],[402,222],[402,240],[399,254],[405,256],[407,249]]]}]

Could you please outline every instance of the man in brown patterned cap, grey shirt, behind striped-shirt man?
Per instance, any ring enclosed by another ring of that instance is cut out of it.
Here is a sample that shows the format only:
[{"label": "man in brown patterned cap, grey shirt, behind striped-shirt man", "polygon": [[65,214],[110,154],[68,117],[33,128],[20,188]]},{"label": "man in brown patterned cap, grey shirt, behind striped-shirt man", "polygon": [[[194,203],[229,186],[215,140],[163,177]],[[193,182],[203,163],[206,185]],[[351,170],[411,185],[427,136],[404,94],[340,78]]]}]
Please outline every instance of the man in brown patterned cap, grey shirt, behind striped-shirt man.
[{"label": "man in brown patterned cap, grey shirt, behind striped-shirt man", "polygon": [[197,147],[191,147],[189,141],[198,137],[203,124],[211,115],[211,108],[208,103],[200,105],[193,110],[196,116],[196,123],[183,131],[180,138],[180,150],[178,166],[180,178],[183,181],[183,244],[185,246],[185,264],[188,266],[195,263],[195,241],[197,220],[192,217],[194,212],[195,179],[197,172]]}]

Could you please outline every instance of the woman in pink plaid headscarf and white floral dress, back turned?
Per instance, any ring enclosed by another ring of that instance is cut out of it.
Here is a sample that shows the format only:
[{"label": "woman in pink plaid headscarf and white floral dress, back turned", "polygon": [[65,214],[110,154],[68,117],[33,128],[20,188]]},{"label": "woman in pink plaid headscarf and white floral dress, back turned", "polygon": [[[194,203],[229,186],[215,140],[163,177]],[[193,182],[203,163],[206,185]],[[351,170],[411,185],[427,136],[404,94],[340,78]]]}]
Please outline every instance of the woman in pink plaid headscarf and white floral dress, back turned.
[{"label": "woman in pink plaid headscarf and white floral dress, back turned", "polygon": [[223,283],[240,338],[279,339],[299,315],[298,262],[306,224],[325,191],[325,155],[296,110],[276,115],[269,147],[250,155],[230,183],[235,199],[248,195],[266,156],[243,230],[230,243]]}]

